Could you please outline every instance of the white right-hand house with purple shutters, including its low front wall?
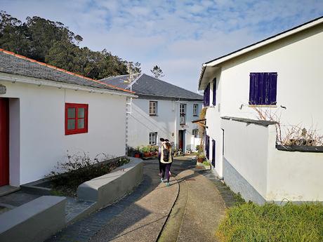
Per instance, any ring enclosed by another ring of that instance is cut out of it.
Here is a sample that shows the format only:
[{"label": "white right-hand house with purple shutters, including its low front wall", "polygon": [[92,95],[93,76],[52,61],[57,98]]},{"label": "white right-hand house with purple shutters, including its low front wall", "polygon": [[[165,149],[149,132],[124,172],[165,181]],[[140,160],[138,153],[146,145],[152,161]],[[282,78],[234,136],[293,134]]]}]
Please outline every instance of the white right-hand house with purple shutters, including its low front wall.
[{"label": "white right-hand house with purple shutters, including its low front wall", "polygon": [[258,109],[280,119],[282,137],[293,125],[323,135],[322,63],[321,17],[202,65],[206,151],[244,198],[323,201],[321,148],[281,151],[275,123],[256,121]]}]

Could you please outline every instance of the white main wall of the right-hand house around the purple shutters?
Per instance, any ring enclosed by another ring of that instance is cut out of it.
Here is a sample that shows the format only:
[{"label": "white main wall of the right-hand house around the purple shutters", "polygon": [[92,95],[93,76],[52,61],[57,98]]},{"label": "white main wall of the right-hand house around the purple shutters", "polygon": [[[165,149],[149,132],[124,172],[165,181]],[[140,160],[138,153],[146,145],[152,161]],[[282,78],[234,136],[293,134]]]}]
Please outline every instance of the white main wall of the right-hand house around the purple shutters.
[{"label": "white main wall of the right-hand house around the purple shutters", "polygon": [[[256,111],[248,105],[250,72],[277,72],[278,75],[277,105],[261,109],[280,116],[283,125],[317,128],[323,134],[323,112],[320,111],[323,89],[322,30],[323,25],[317,25],[220,64],[218,72],[213,76],[218,81],[216,99],[219,107],[209,108],[206,113],[207,133],[217,144],[216,156],[219,162],[216,171],[219,175],[222,174],[222,149],[218,147],[222,143],[220,116],[256,118]],[[211,85],[210,102],[212,89]]]}]

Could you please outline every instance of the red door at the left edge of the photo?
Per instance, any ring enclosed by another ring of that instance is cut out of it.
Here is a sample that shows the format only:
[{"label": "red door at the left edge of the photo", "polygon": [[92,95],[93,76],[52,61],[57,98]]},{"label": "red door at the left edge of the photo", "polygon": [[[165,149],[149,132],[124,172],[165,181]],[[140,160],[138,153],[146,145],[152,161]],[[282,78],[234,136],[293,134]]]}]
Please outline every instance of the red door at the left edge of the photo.
[{"label": "red door at the left edge of the photo", "polygon": [[9,184],[9,100],[0,98],[0,186]]}]

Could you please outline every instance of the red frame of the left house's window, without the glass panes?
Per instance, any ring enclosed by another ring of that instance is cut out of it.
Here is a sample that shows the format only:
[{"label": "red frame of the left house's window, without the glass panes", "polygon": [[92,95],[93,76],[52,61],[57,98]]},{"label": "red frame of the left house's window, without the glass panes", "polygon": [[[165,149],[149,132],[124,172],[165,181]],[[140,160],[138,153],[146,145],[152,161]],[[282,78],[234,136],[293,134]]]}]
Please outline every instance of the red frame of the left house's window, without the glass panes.
[{"label": "red frame of the left house's window, without the glass panes", "polygon": [[[75,116],[74,118],[68,118],[67,109],[74,108]],[[84,108],[84,118],[79,118],[79,108]],[[74,129],[67,129],[67,121],[69,119],[74,119]],[[84,119],[84,128],[77,128],[79,119]],[[88,105],[79,103],[65,103],[65,135],[74,135],[77,133],[88,133]]]}]

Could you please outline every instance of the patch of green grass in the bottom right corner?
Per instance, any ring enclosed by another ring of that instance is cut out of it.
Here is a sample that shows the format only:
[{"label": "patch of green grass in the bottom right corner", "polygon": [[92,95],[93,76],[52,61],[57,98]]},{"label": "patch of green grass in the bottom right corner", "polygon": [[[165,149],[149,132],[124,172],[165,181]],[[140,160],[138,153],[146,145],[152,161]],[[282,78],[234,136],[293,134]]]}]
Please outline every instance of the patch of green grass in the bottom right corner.
[{"label": "patch of green grass in the bottom right corner", "polygon": [[224,242],[323,241],[323,205],[244,203],[228,209],[216,235]]}]

